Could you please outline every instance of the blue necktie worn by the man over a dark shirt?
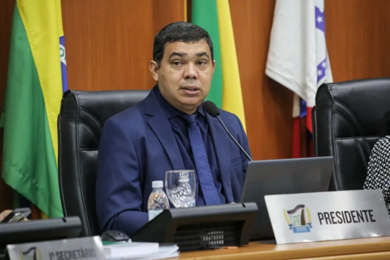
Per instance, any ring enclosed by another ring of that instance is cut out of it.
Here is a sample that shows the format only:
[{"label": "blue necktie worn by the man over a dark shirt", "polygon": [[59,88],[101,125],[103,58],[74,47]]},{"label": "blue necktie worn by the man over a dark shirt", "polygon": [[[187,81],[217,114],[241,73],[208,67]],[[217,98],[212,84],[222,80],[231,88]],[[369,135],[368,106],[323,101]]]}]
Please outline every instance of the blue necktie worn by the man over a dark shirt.
[{"label": "blue necktie worn by the man over a dark shirt", "polygon": [[213,175],[207,158],[205,144],[203,143],[201,130],[196,122],[197,115],[184,115],[188,122],[188,136],[191,143],[193,159],[195,161],[199,183],[203,192],[206,205],[221,204],[221,199],[215,187]]}]

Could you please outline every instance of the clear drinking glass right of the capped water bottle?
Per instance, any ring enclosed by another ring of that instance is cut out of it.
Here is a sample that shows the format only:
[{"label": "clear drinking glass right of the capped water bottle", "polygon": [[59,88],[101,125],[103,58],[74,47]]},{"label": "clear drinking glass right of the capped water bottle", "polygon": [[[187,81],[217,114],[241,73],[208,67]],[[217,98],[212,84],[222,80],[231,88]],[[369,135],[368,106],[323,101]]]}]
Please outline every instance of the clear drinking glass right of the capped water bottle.
[{"label": "clear drinking glass right of the capped water bottle", "polygon": [[194,206],[196,179],[194,170],[176,170],[165,173],[168,199],[175,208]]}]

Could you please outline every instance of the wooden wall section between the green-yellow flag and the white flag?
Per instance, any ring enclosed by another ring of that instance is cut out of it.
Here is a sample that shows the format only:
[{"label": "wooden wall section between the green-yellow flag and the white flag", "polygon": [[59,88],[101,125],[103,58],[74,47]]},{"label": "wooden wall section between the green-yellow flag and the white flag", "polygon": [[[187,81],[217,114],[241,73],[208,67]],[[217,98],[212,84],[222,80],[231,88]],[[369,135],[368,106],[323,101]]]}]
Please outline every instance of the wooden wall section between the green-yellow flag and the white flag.
[{"label": "wooden wall section between the green-yellow flag and the white flag", "polygon": [[275,0],[230,0],[253,159],[289,158],[292,93],[265,74]]}]

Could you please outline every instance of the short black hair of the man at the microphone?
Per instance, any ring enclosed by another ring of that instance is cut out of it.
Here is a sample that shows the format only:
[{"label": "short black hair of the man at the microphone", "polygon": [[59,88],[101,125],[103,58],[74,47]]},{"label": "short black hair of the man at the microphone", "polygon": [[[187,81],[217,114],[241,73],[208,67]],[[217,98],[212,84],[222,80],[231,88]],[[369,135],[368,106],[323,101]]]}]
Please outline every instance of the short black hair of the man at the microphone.
[{"label": "short black hair of the man at the microphone", "polygon": [[161,60],[163,60],[165,45],[167,43],[196,43],[201,40],[206,40],[210,47],[211,60],[214,60],[213,43],[205,29],[190,22],[170,23],[154,37],[153,60],[157,62],[158,67],[161,66]]}]

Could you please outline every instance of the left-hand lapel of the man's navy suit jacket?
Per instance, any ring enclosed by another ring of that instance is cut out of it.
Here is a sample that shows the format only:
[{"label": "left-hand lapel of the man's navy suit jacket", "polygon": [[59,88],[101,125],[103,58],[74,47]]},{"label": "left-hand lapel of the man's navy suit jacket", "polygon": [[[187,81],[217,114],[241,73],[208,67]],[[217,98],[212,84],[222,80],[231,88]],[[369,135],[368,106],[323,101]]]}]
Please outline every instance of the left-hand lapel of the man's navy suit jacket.
[{"label": "left-hand lapel of the man's navy suit jacket", "polygon": [[184,163],[177,146],[175,136],[163,108],[159,105],[153,90],[145,102],[145,114],[151,116],[148,124],[156,134],[161,145],[163,145],[173,170],[183,170]]}]

